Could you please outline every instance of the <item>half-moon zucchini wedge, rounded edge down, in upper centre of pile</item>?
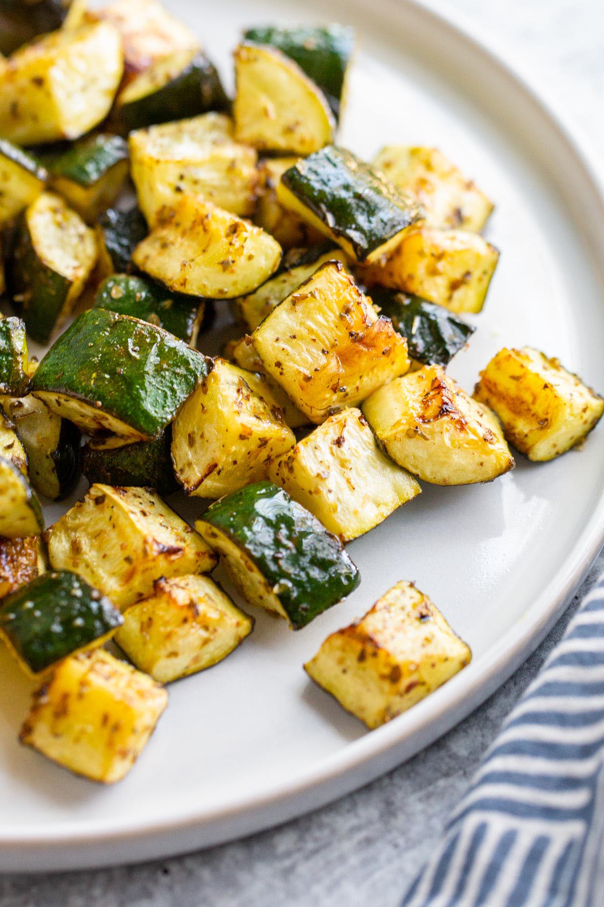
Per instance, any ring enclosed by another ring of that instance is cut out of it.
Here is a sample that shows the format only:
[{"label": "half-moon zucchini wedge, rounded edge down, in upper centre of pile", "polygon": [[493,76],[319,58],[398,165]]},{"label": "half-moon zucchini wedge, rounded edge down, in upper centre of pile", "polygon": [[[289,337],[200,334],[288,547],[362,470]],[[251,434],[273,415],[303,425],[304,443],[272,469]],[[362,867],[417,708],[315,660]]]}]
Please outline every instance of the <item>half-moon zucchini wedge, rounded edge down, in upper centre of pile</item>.
[{"label": "half-moon zucchini wedge, rounded edge down, in upper centre of pile", "polygon": [[281,246],[212,202],[183,196],[161,212],[132,260],[179,293],[225,299],[251,293],[270,278],[279,267]]}]

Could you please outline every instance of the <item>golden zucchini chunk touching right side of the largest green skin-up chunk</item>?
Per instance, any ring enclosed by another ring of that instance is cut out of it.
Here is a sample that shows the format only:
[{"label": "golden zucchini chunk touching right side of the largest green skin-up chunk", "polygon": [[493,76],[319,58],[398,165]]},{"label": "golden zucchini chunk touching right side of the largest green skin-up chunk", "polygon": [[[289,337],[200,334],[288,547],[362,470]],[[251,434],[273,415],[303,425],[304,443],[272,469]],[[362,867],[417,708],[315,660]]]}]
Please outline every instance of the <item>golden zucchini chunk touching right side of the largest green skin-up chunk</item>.
[{"label": "golden zucchini chunk touching right side of the largest green skin-up chunk", "polygon": [[187,494],[219,498],[268,476],[295,444],[260,375],[216,359],[172,426],[172,462]]}]

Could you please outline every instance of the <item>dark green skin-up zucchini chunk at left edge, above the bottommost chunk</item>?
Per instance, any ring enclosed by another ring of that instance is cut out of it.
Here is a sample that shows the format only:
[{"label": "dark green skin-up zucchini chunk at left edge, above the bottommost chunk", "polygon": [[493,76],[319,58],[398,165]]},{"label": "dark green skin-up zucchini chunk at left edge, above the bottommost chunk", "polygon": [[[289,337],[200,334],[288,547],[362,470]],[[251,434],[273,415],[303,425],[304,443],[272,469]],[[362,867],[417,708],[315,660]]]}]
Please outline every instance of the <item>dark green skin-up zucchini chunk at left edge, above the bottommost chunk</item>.
[{"label": "dark green skin-up zucchini chunk at left edge, above the bottommost chunk", "polygon": [[106,596],[69,571],[43,573],[0,607],[0,632],[32,674],[107,639],[123,622]]}]

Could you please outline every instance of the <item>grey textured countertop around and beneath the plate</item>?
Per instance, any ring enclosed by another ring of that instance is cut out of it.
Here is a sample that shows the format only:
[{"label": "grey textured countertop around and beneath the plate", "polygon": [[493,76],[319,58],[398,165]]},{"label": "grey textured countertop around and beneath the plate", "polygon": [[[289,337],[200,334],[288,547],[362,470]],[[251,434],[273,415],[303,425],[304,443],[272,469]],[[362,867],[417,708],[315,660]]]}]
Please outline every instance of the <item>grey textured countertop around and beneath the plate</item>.
[{"label": "grey textured countertop around and beneath the plate", "polygon": [[[169,0],[167,0],[169,6]],[[604,152],[601,0],[450,0],[546,76]],[[604,555],[580,595],[604,570]],[[578,596],[579,598],[579,596]],[[235,844],[158,863],[0,878],[0,907],[394,907],[503,718],[560,639],[578,598],[528,662],[475,714],[340,802]]]}]

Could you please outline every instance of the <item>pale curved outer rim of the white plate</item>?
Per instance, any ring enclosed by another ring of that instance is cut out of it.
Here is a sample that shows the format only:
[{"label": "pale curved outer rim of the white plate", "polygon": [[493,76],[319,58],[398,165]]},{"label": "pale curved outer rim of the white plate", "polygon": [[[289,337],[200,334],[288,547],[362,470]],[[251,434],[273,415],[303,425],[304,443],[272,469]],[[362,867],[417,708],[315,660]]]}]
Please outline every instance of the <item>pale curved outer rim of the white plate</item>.
[{"label": "pale curved outer rim of the white plate", "polygon": [[[363,5],[362,0],[346,2],[356,7]],[[485,34],[482,26],[449,3],[442,0],[378,0],[378,5],[387,11],[398,7],[407,9],[412,15],[426,16],[433,24],[448,29],[458,41],[469,44],[474,54],[484,54],[491,66],[516,83],[546,115],[550,128],[558,133],[580,164],[594,188],[594,203],[599,203],[604,212],[604,163],[599,160],[590,139],[541,76],[532,72],[526,63],[518,61],[508,48],[503,50],[496,39]],[[564,562],[561,575],[557,574],[532,602],[522,622],[516,621],[496,646],[473,662],[472,670],[461,672],[437,689],[430,695],[429,705],[418,713],[414,714],[415,710],[411,709],[387,725],[348,743],[294,781],[275,785],[268,791],[239,796],[233,803],[223,802],[209,809],[197,806],[187,813],[180,810],[177,815],[163,819],[126,818],[119,823],[104,819],[95,820],[93,825],[90,822],[62,822],[55,827],[49,826],[43,833],[36,830],[34,824],[24,825],[16,831],[0,824],[0,848],[4,852],[0,853],[0,870],[64,870],[134,863],[185,853],[281,824],[358,789],[401,765],[455,727],[513,674],[560,617],[603,542],[604,491]],[[489,663],[484,665],[487,658]],[[451,714],[455,714],[453,720],[447,717]],[[422,740],[421,746],[409,743],[417,741],[418,736]],[[366,769],[364,776],[359,777],[363,768]],[[320,796],[311,802],[309,797],[316,793]],[[213,826],[216,826],[214,834]],[[206,834],[208,830],[209,834]],[[196,832],[198,837],[194,840]],[[173,837],[171,843],[170,835]],[[128,852],[121,849],[125,842],[130,845]],[[96,845],[98,853],[92,855],[91,845]]]}]

